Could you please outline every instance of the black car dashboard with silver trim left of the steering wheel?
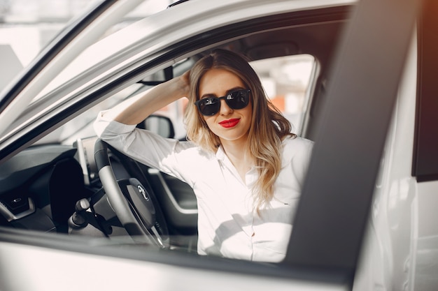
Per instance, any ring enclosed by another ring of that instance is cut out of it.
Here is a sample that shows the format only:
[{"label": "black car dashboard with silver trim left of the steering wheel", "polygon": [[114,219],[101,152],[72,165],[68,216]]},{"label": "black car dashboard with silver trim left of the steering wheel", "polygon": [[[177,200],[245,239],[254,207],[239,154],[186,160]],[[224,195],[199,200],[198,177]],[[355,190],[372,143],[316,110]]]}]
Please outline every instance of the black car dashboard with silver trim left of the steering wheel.
[{"label": "black car dashboard with silver trim left of the steering wheel", "polygon": [[[82,227],[72,225],[71,216],[85,199],[93,214],[89,222],[96,223],[95,228],[99,230],[96,234],[113,234],[113,228],[105,225],[106,221],[115,225],[119,223],[114,222],[115,214],[104,199],[94,162],[96,140],[97,137],[87,137],[78,139],[71,146],[45,144],[29,147],[0,165],[0,225],[43,232],[78,233]],[[113,156],[111,163],[118,179],[129,178],[125,168]],[[106,218],[96,211],[105,214]],[[95,221],[97,217],[99,222]],[[88,234],[94,235],[92,232]]]}]

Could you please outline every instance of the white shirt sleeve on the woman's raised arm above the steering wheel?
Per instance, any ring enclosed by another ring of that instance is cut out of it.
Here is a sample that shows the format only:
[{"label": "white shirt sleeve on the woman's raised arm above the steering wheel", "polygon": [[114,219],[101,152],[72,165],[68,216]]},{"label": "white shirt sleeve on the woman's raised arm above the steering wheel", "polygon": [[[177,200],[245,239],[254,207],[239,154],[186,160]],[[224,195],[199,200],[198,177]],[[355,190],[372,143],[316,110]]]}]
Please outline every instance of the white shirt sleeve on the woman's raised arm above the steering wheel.
[{"label": "white shirt sleeve on the woman's raised arm above the steering wheel", "polygon": [[183,169],[188,156],[197,148],[191,142],[164,138],[135,125],[108,120],[104,111],[94,121],[97,136],[127,156],[149,167],[170,174],[192,186],[190,171]]}]

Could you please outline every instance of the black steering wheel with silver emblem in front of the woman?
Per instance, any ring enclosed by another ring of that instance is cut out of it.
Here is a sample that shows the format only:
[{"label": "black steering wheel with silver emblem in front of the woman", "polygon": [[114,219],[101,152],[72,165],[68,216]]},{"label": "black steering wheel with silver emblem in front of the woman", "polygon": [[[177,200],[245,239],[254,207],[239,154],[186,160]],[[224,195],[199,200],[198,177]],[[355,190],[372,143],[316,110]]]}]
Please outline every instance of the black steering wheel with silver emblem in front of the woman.
[{"label": "black steering wheel with silver emblem in front of the woman", "polygon": [[132,239],[168,248],[167,225],[160,208],[155,207],[157,202],[152,189],[135,178],[118,181],[108,156],[108,144],[100,139],[94,144],[94,159],[108,201]]}]

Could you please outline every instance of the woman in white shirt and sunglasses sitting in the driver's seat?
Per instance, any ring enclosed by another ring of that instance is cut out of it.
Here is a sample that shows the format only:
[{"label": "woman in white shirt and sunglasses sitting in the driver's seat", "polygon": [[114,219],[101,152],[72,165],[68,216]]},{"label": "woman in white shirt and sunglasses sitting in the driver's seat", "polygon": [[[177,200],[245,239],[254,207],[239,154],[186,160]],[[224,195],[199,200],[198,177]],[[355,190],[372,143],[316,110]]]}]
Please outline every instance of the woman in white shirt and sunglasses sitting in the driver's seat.
[{"label": "woman in white shirt and sunglasses sitting in the driver's seat", "polygon": [[[182,97],[190,101],[189,142],[135,128]],[[289,121],[269,102],[248,61],[216,50],[189,72],[128,101],[99,114],[97,135],[192,186],[198,253],[283,260],[312,142],[290,133]]]}]

